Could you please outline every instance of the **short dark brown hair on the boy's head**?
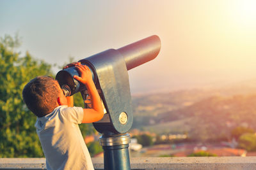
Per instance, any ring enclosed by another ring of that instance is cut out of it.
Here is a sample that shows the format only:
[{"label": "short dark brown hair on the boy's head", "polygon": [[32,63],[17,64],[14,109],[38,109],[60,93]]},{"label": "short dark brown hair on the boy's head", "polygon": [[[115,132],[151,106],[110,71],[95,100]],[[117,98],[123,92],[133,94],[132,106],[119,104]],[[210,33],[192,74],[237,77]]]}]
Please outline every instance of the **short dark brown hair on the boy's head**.
[{"label": "short dark brown hair on the boy's head", "polygon": [[38,76],[22,90],[22,97],[29,110],[37,117],[44,117],[58,106],[58,82],[49,76]]}]

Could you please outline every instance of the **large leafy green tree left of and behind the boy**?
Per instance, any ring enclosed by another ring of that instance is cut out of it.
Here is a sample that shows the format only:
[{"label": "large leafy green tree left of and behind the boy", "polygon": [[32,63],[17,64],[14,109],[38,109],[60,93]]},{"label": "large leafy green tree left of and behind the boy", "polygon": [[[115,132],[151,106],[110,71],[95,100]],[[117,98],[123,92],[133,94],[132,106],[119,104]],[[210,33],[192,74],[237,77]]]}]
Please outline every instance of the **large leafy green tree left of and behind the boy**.
[{"label": "large leafy green tree left of and behind the boy", "polygon": [[39,75],[52,76],[51,65],[14,51],[17,36],[0,39],[0,157],[43,157],[34,127],[36,117],[22,100],[22,89]]}]

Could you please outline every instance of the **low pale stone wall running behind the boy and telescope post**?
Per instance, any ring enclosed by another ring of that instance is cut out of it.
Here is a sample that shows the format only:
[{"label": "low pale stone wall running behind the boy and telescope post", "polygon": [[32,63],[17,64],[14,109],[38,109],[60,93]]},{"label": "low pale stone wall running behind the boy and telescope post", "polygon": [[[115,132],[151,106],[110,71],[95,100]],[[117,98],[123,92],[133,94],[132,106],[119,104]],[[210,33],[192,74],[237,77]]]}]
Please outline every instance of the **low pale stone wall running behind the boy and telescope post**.
[{"label": "low pale stone wall running behind the boy and telescope post", "polygon": [[[93,158],[95,169],[104,169],[102,158]],[[46,169],[45,159],[3,158],[0,169]],[[256,169],[256,157],[135,157],[131,169]]]}]

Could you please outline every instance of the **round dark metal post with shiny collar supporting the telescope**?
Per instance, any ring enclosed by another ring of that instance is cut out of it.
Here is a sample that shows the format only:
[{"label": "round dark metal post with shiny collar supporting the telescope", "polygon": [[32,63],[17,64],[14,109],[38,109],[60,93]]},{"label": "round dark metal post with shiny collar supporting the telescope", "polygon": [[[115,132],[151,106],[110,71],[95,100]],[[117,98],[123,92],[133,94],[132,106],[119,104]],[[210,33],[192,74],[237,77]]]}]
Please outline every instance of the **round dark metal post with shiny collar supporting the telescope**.
[{"label": "round dark metal post with shiny collar supporting the telescope", "polygon": [[116,136],[104,136],[99,138],[100,145],[104,150],[104,169],[106,170],[130,170],[129,134]]}]

